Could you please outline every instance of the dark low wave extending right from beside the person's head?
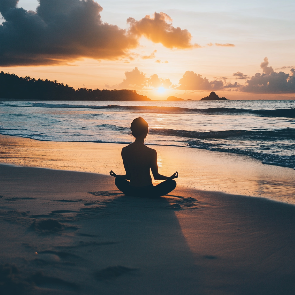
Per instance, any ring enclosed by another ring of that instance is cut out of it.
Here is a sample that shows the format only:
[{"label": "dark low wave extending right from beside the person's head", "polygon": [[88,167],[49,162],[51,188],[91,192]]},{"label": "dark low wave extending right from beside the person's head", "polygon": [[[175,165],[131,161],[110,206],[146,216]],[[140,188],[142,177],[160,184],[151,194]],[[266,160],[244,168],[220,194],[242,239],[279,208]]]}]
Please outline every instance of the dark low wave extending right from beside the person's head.
[{"label": "dark low wave extending right from beside the person's head", "polygon": [[269,140],[272,138],[295,138],[295,129],[278,129],[278,130],[225,130],[225,131],[186,131],[174,129],[149,129],[151,134],[181,136],[188,138],[213,139],[243,137],[252,140]]}]

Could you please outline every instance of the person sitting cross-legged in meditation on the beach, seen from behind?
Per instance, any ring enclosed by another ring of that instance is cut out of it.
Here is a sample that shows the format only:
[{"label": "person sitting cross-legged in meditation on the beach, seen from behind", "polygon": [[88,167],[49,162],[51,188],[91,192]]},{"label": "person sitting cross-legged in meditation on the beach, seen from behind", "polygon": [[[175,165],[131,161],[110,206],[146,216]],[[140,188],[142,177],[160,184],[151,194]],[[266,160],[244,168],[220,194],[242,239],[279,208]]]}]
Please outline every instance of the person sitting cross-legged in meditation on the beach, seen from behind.
[{"label": "person sitting cross-legged in meditation on the beach, seen from behind", "polygon": [[[144,144],[148,135],[148,123],[139,117],[132,121],[130,129],[135,141],[122,148],[121,152],[126,173],[117,175],[110,171],[110,174],[116,178],[117,188],[126,196],[157,198],[170,193],[176,188],[176,181],[173,178],[178,177],[178,172],[171,176],[158,173],[157,152]],[[154,179],[165,181],[153,186],[150,170]]]}]

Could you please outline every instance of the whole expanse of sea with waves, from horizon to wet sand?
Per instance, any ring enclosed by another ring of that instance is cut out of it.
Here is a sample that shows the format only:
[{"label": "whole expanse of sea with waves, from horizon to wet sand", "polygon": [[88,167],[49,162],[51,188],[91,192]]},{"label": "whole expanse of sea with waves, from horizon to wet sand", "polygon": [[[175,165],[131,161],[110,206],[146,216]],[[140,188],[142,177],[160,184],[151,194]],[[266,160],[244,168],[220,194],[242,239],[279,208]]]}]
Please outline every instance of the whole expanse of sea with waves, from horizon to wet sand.
[{"label": "whole expanse of sea with waves, from horizon to wet sand", "polygon": [[148,145],[249,155],[295,169],[295,101],[1,101],[0,133],[42,141],[131,143],[130,124],[149,124]]}]

